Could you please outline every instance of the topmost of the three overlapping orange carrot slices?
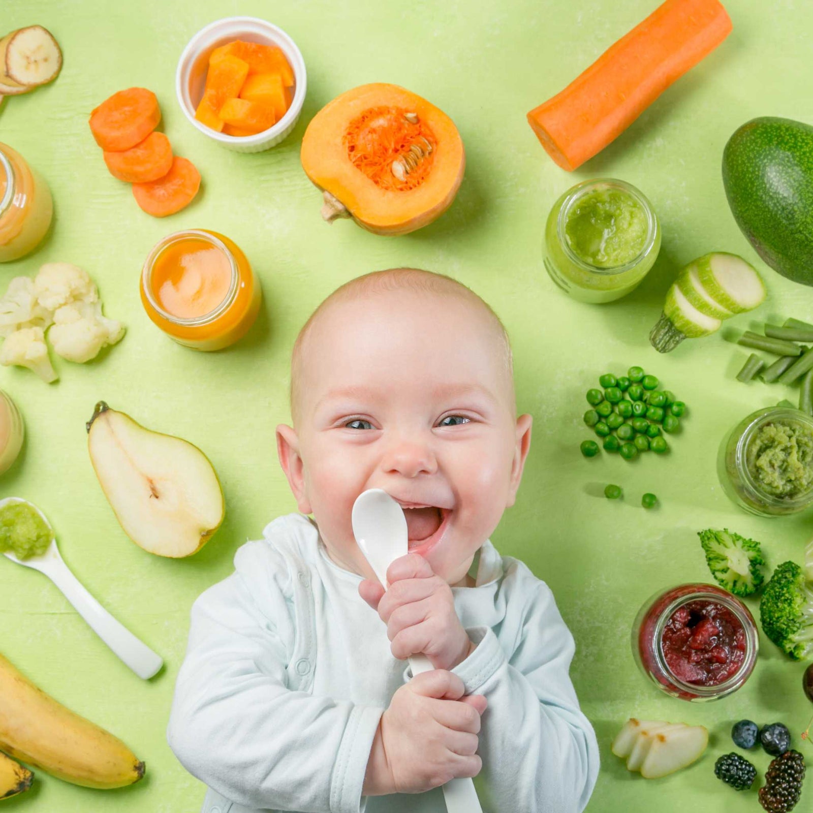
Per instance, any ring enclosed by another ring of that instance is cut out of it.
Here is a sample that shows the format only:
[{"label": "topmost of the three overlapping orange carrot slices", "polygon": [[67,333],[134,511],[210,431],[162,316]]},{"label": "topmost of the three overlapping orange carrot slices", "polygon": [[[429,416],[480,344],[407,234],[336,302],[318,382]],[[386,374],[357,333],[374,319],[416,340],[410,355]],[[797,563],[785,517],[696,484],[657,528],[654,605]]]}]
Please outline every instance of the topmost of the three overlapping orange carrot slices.
[{"label": "topmost of the three overlapping orange carrot slices", "polygon": [[90,114],[90,132],[98,146],[122,152],[136,146],[158,127],[158,98],[146,88],[120,90]]}]

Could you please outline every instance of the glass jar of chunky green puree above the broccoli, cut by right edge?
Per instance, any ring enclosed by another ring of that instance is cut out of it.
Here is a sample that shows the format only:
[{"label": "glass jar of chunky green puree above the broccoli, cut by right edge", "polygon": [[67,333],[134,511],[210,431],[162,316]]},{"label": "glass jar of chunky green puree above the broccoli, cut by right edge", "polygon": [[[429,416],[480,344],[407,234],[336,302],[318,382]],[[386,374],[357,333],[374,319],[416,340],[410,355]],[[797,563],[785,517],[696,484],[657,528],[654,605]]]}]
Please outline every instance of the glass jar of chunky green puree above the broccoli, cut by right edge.
[{"label": "glass jar of chunky green puree above the broccoli, cut by right edge", "polygon": [[717,471],[728,496],[759,516],[813,504],[813,417],[769,406],[740,421],[720,446]]}]

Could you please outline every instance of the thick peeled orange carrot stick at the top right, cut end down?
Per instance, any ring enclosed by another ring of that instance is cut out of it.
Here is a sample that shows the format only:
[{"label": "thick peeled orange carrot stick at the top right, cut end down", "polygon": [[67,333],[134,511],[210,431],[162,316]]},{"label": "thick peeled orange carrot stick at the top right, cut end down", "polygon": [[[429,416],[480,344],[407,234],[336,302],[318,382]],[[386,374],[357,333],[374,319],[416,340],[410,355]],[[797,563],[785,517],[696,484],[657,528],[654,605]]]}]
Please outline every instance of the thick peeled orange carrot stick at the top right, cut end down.
[{"label": "thick peeled orange carrot stick at the top right, cut end down", "polygon": [[576,169],[719,46],[731,28],[719,0],[666,0],[561,93],[528,113],[528,123],[560,167]]}]

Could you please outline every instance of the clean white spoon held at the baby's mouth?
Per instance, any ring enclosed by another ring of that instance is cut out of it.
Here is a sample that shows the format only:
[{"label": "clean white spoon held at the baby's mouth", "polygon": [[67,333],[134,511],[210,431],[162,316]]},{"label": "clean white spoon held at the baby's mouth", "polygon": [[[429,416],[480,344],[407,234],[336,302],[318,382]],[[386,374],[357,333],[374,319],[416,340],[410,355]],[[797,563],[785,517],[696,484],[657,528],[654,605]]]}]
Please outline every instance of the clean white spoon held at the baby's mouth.
[{"label": "clean white spoon held at the baby's mouth", "polygon": [[[359,494],[351,515],[353,535],[384,589],[387,589],[387,569],[395,559],[406,556],[409,534],[402,507],[383,489],[368,489]],[[412,655],[409,665],[413,676],[433,669],[432,662],[422,654]],[[466,777],[443,785],[443,798],[449,813],[482,813],[474,782]]]}]

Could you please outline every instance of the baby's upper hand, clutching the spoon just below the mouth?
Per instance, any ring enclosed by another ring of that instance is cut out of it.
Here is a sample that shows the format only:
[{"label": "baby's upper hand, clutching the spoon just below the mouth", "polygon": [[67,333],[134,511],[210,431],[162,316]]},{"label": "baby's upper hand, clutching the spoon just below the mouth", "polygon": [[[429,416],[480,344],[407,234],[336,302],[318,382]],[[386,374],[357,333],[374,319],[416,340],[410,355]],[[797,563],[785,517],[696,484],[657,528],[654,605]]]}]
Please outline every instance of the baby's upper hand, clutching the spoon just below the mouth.
[{"label": "baby's upper hand, clutching the spoon just below the mouth", "polygon": [[452,669],[474,649],[454,610],[452,589],[418,554],[396,559],[387,571],[389,590],[364,580],[359,595],[387,625],[393,655],[423,653],[436,669]]}]

